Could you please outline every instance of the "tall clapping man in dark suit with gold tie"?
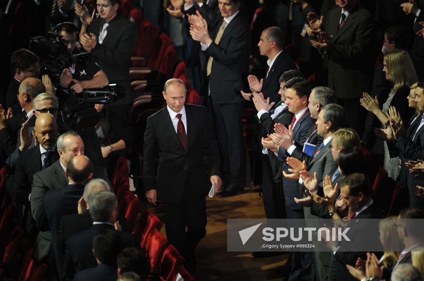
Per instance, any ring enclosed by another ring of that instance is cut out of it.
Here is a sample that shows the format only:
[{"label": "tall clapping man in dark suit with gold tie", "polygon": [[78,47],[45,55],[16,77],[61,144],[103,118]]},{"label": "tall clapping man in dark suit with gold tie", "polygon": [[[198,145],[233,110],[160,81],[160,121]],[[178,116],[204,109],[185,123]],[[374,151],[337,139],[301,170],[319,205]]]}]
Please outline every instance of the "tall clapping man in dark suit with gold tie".
[{"label": "tall clapping man in dark suit with gold tie", "polygon": [[251,46],[251,30],[239,11],[240,4],[240,0],[219,0],[221,17],[216,28],[208,30],[206,21],[193,15],[196,23],[190,30],[193,40],[199,41],[201,50],[209,55],[206,75],[212,104],[208,108],[214,116],[225,186],[218,197],[243,193],[246,182],[244,99],[240,91],[248,72],[250,48],[247,46]]}]

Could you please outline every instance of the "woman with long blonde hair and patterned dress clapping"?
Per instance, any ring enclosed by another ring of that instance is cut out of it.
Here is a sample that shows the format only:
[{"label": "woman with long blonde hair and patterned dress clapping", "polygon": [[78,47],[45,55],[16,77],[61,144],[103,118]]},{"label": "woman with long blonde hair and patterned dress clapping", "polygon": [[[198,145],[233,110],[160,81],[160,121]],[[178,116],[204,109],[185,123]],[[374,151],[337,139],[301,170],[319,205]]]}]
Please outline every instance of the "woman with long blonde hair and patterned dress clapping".
[{"label": "woman with long blonde hair and patterned dress clapping", "polygon": [[[386,79],[392,83],[392,88],[387,100],[380,109],[377,96],[372,98],[369,94],[364,93],[360,103],[366,110],[374,113],[386,128],[389,118],[386,116],[390,106],[395,106],[400,112],[403,120],[409,120],[413,114],[413,110],[408,107],[405,99],[409,95],[410,85],[418,81],[414,65],[409,54],[404,50],[392,50],[384,55],[384,68]],[[384,142],[384,169],[388,175],[397,179],[400,172],[399,157],[390,157],[387,143]]]}]

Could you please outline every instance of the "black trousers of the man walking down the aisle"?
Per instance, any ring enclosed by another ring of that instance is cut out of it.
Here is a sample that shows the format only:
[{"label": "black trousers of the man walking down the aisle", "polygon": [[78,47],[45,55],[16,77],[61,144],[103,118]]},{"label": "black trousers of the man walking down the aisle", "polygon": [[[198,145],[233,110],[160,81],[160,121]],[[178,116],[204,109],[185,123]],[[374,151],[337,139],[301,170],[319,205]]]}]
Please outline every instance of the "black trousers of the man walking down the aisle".
[{"label": "black trousers of the man walking down the aisle", "polygon": [[[184,193],[178,203],[162,202],[165,213],[166,238],[186,260],[187,270],[195,270],[194,249],[206,235],[206,199],[194,198],[187,174]],[[186,232],[187,226],[187,232]],[[190,268],[191,267],[191,268]]]}]

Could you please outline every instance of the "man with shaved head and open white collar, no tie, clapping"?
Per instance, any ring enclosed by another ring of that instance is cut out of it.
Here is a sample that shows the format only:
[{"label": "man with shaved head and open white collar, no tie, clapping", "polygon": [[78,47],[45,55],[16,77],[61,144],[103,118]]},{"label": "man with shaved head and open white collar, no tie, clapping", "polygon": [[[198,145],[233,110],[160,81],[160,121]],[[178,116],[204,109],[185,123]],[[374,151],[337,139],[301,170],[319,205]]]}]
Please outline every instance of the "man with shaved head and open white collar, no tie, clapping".
[{"label": "man with shaved head and open white collar, no tie, clapping", "polygon": [[[247,80],[252,93],[261,93],[264,99],[270,98],[270,102],[278,102],[278,92],[280,89],[279,78],[281,75],[290,69],[296,69],[296,64],[283,50],[284,47],[284,34],[281,29],[276,26],[265,28],[262,31],[261,38],[259,39],[259,51],[261,55],[268,57],[268,67],[265,76],[260,81],[255,75],[249,75]],[[303,77],[303,75],[302,75]],[[244,99],[250,100],[252,94],[241,91]]]}]

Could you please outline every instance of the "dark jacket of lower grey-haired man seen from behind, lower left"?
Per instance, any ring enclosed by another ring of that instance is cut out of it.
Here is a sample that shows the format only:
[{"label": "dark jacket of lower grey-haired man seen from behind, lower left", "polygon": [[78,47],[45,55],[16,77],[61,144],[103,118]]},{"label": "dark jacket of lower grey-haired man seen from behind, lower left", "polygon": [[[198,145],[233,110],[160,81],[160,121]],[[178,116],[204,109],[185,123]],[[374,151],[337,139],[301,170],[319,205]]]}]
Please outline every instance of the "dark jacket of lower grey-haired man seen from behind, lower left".
[{"label": "dark jacket of lower grey-haired man seen from behind, lower left", "polygon": [[[93,256],[93,238],[106,230],[114,230],[109,224],[94,224],[90,229],[77,233],[68,239],[65,253],[65,276],[67,280],[72,280],[75,271],[84,270],[97,265]],[[122,248],[139,247],[139,241],[134,234],[117,231],[122,238]]]}]

